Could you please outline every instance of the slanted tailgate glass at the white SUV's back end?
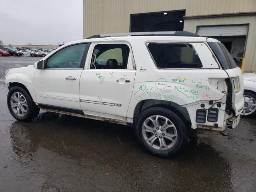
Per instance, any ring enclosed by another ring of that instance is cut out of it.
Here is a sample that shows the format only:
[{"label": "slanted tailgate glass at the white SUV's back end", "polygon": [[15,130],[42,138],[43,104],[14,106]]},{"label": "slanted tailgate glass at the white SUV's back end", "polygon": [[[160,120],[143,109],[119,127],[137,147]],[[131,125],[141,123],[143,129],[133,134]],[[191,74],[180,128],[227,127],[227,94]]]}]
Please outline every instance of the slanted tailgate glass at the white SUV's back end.
[{"label": "slanted tailgate glass at the white SUV's back end", "polygon": [[208,42],[223,69],[236,68],[236,62],[222,43]]}]

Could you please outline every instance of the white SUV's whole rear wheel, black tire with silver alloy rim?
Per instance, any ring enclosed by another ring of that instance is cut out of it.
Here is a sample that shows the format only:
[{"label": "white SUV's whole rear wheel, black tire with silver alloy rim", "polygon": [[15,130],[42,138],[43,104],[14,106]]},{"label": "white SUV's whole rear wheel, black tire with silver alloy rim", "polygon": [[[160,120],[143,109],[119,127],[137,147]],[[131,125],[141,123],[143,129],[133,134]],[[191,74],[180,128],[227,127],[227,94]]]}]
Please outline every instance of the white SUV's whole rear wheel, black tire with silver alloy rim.
[{"label": "white SUV's whole rear wheel, black tire with silver alloy rim", "polygon": [[[152,120],[155,123],[157,120],[160,126],[155,126]],[[164,127],[166,122],[169,125],[168,128]],[[147,130],[150,130],[150,132]],[[135,131],[146,150],[158,157],[171,157],[178,154],[188,140],[184,122],[174,112],[161,107],[144,110],[138,117]],[[168,139],[168,137],[172,138],[172,140]]]}]

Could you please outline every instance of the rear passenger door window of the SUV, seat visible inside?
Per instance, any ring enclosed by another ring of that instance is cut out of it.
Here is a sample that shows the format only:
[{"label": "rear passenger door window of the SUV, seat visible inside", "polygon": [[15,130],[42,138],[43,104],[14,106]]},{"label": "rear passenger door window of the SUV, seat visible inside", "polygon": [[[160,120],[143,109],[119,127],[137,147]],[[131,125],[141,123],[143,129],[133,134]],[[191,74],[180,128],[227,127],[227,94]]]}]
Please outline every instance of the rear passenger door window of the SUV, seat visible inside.
[{"label": "rear passenger door window of the SUV, seat visible inside", "polygon": [[130,48],[126,44],[98,44],[94,47],[92,69],[126,69]]}]

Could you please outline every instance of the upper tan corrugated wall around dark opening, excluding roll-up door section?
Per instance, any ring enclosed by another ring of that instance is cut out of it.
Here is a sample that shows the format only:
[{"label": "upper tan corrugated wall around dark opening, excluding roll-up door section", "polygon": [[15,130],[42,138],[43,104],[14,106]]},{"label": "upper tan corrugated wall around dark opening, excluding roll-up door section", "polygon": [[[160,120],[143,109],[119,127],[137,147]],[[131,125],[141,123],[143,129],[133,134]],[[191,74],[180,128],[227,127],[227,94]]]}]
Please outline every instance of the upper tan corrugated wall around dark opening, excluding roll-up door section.
[{"label": "upper tan corrugated wall around dark opening, excluding roll-up door section", "polygon": [[84,0],[84,38],[129,32],[130,14],[186,10],[186,16],[252,12],[256,0]]}]

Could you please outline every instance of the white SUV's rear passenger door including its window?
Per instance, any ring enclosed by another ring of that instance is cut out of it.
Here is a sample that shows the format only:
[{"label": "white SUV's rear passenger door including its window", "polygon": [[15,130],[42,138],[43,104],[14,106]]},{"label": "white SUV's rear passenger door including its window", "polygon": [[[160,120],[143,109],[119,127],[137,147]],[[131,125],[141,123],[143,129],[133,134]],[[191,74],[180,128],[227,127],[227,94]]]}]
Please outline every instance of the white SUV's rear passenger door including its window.
[{"label": "white SUV's rear passenger door including its window", "polygon": [[80,79],[80,105],[84,114],[125,120],[136,70],[126,43],[96,44],[90,69]]}]

